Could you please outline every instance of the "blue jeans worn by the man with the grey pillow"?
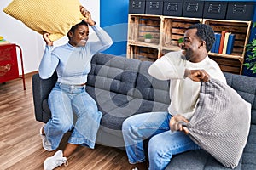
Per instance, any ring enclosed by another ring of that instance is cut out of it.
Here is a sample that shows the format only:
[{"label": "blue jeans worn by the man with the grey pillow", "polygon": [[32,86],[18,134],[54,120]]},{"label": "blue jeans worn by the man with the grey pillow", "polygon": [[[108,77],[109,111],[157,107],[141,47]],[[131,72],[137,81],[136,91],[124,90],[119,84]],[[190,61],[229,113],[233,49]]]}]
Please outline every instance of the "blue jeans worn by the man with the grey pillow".
[{"label": "blue jeans worn by the man with the grey pillow", "polygon": [[170,130],[171,118],[168,112],[151,112],[131,116],[123,122],[125,149],[131,164],[145,161],[143,139],[150,139],[148,143],[150,170],[165,169],[173,155],[200,149],[189,135]]}]

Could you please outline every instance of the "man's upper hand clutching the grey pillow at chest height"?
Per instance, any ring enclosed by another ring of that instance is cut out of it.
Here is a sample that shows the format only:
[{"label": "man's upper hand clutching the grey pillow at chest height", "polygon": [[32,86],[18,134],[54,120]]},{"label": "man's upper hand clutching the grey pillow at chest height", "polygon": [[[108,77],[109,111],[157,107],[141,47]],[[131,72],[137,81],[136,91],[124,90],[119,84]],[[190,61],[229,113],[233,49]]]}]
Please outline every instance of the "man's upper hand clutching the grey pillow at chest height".
[{"label": "man's upper hand clutching the grey pillow at chest height", "polygon": [[195,82],[208,82],[210,80],[210,75],[205,70],[186,69],[184,77],[189,77]]}]

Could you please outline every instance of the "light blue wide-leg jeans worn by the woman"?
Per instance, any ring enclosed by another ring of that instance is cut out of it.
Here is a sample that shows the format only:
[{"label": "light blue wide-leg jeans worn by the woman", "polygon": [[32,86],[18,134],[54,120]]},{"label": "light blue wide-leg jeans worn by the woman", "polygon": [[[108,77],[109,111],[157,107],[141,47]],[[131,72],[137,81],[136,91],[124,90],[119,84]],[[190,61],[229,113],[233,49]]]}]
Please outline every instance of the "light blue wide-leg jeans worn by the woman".
[{"label": "light blue wide-leg jeans worn by the woman", "polygon": [[[98,111],[95,100],[85,91],[85,86],[57,82],[48,99],[51,119],[45,124],[44,133],[52,149],[58,148],[67,131],[72,131],[69,144],[82,144],[93,149],[102,112]],[[77,116],[75,122],[73,112]]]}]

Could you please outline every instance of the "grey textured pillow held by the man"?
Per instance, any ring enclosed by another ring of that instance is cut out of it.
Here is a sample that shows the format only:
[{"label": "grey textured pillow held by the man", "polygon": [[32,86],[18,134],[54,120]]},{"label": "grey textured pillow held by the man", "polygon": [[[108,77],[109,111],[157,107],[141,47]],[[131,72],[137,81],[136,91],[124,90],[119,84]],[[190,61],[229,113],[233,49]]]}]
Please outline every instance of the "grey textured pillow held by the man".
[{"label": "grey textured pillow held by the man", "polygon": [[212,79],[201,82],[199,102],[189,123],[189,137],[225,167],[241,159],[251,125],[251,104],[230,86]]}]

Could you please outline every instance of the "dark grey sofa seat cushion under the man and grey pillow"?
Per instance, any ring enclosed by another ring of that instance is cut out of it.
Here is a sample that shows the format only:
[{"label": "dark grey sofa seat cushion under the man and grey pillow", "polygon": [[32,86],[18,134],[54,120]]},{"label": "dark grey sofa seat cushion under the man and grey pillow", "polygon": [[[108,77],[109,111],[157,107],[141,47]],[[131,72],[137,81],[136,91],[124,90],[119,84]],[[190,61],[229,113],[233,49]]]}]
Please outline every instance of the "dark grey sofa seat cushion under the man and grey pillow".
[{"label": "dark grey sofa seat cushion under the man and grey pillow", "polygon": [[[252,125],[247,139],[247,145],[243,150],[241,160],[236,170],[251,170],[256,169],[256,125]],[[205,150],[190,150],[183,154],[173,156],[172,161],[166,167],[166,170],[171,169],[196,169],[196,170],[229,170],[224,167],[216,159],[214,159]]]}]

